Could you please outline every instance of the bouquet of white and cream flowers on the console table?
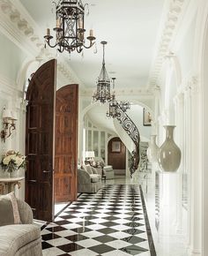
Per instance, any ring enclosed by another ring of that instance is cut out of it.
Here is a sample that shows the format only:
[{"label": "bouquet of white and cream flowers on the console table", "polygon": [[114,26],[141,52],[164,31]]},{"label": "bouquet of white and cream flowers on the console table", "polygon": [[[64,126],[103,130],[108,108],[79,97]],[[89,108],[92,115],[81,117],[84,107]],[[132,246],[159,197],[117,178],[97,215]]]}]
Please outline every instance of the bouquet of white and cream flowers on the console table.
[{"label": "bouquet of white and cream flowers on the console table", "polygon": [[15,152],[14,150],[7,151],[2,158],[1,165],[8,172],[18,170],[19,168],[26,168],[26,156]]}]

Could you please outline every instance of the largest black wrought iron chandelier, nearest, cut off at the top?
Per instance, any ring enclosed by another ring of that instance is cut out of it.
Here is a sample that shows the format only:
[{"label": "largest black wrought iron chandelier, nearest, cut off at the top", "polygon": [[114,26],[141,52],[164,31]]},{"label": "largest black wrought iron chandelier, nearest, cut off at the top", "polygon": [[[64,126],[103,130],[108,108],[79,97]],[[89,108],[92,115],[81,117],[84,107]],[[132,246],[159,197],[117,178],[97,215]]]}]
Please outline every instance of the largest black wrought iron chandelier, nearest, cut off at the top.
[{"label": "largest black wrought iron chandelier, nearest, cut off at the top", "polygon": [[[55,2],[53,2],[56,4]],[[47,34],[44,36],[45,41],[51,48],[57,47],[59,52],[64,50],[71,53],[77,50],[80,53],[83,48],[89,49],[95,42],[93,29],[90,30],[89,36],[86,37],[90,41],[89,46],[85,45],[85,6],[81,0],[59,0],[56,4],[56,41],[52,44],[54,38],[47,28]]]}]

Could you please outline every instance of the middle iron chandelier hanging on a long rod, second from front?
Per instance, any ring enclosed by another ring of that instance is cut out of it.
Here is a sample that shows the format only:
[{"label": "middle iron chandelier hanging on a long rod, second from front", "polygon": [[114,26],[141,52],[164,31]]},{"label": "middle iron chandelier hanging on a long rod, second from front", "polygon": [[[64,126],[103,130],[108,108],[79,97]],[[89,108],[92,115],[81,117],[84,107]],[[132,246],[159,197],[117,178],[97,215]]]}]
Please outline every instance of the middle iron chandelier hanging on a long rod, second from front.
[{"label": "middle iron chandelier hanging on a long rod, second from front", "polygon": [[93,102],[100,101],[101,103],[105,103],[111,101],[110,79],[108,78],[108,72],[105,66],[105,45],[107,44],[107,41],[100,41],[100,43],[103,46],[102,68],[97,80],[97,89],[93,93]]}]

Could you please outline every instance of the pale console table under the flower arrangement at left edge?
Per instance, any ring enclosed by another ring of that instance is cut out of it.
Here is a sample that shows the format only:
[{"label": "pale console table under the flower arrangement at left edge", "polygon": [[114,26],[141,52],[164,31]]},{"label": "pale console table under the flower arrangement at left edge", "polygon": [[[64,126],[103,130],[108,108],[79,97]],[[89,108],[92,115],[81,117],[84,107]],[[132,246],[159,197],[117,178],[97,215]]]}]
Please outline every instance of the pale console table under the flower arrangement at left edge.
[{"label": "pale console table under the flower arrangement at left edge", "polygon": [[18,189],[21,187],[20,181],[25,177],[0,177],[0,194],[4,195],[15,191],[15,186]]}]

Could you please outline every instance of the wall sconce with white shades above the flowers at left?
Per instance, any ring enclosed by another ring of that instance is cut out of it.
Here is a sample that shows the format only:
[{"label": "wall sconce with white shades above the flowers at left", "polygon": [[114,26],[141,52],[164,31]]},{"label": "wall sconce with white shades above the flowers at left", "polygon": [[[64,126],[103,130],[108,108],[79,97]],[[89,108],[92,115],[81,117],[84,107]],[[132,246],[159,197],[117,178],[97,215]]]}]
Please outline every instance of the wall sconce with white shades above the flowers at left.
[{"label": "wall sconce with white shades above the flowers at left", "polygon": [[1,139],[5,142],[5,139],[11,136],[11,133],[16,129],[15,121],[17,118],[11,114],[11,109],[3,109],[3,129],[1,131]]}]

